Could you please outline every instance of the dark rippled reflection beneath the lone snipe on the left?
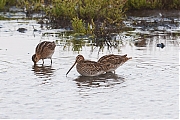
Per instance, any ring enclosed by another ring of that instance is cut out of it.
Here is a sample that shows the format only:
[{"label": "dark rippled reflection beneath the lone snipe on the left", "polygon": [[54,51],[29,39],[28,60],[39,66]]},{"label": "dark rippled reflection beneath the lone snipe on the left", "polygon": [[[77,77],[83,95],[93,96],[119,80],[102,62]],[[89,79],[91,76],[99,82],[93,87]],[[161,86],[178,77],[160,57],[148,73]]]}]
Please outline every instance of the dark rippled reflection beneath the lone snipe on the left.
[{"label": "dark rippled reflection beneath the lone snipe on the left", "polygon": [[54,69],[52,69],[52,66],[33,65],[32,71],[34,71],[37,76],[48,78],[53,74]]}]

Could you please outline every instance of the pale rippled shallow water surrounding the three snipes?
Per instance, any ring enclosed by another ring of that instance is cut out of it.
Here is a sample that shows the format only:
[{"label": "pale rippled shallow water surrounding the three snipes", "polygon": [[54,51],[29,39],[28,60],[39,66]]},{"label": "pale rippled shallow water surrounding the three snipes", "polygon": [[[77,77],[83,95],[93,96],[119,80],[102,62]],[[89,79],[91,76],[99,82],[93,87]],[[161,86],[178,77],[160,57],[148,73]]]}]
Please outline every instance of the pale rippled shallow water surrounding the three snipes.
[{"label": "pale rippled shallow water surrounding the three snipes", "polygon": [[[129,15],[125,23],[134,30],[115,36],[110,41],[115,47],[102,48],[63,37],[64,30],[41,29],[34,20],[0,21],[0,118],[177,119],[180,16],[155,26],[150,20],[162,18],[153,15]],[[138,24],[142,21],[149,26]],[[56,41],[53,64],[33,66],[35,46],[44,40]],[[133,59],[115,74],[83,77],[74,68],[66,77],[78,54],[96,61],[110,53]]]}]

